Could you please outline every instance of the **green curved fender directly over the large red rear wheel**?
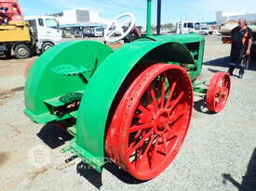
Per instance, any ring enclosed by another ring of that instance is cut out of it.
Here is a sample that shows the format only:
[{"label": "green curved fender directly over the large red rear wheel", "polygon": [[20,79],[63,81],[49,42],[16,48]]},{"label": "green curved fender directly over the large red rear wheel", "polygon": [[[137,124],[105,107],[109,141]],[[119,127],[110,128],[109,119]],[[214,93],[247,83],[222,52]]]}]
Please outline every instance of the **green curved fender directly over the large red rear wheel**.
[{"label": "green curved fender directly over the large red rear wheel", "polygon": [[96,70],[83,96],[71,148],[101,172],[104,135],[115,96],[137,63],[146,61],[194,63],[185,45],[167,41],[138,41],[117,49]]}]

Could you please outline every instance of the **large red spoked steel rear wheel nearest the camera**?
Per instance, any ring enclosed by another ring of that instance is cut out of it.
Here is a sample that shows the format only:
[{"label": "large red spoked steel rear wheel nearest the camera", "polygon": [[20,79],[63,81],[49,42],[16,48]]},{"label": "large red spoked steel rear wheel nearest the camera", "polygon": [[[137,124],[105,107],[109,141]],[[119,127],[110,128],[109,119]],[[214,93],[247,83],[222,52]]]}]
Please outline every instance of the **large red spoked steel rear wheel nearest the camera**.
[{"label": "large red spoked steel rear wheel nearest the camera", "polygon": [[106,153],[137,179],[155,178],[181,148],[193,104],[185,70],[170,64],[150,66],[129,85],[115,109]]}]

